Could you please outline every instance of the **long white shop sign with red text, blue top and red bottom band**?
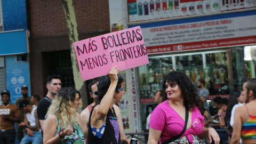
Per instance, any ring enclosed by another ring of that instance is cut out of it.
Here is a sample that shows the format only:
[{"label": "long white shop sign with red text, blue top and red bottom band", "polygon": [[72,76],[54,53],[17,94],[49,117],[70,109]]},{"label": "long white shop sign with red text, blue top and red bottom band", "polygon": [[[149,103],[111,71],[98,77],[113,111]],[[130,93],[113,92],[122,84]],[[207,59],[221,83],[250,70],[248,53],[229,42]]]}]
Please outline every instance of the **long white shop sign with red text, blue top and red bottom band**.
[{"label": "long white shop sign with red text, blue top and red bottom band", "polygon": [[[193,21],[193,22],[191,22]],[[148,53],[256,43],[256,11],[141,25]]]}]

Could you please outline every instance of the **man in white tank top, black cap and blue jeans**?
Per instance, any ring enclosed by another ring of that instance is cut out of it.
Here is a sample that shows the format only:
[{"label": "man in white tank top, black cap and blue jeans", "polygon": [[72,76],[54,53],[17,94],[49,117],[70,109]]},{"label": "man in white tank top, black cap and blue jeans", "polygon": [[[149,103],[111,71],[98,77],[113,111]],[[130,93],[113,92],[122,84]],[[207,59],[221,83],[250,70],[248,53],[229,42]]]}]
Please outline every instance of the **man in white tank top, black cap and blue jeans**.
[{"label": "man in white tank top, black cap and blue jeans", "polygon": [[22,138],[20,144],[25,144],[31,142],[32,144],[42,143],[43,137],[39,126],[39,121],[37,118],[36,107],[32,107],[28,100],[23,99],[18,103],[18,109],[25,113],[24,122],[18,124],[18,126],[24,127],[28,134]]}]

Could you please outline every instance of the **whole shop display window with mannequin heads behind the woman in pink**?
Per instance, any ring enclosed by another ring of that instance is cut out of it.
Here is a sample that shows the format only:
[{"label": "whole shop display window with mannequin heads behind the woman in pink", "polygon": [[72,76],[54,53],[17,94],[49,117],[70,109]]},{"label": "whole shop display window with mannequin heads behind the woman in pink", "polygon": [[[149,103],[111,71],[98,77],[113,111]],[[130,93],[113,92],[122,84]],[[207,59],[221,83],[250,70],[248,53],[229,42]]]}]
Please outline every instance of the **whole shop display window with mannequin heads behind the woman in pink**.
[{"label": "whole shop display window with mannequin heads behind the woman in pink", "polygon": [[199,78],[205,80],[205,88],[210,92],[207,101],[211,111],[215,107],[212,101],[215,97],[229,98],[230,89],[242,89],[245,80],[250,75],[255,75],[255,73],[251,74],[252,70],[247,70],[246,66],[252,69],[254,63],[252,60],[244,60],[243,47],[229,50],[231,51],[229,64],[227,50],[149,57],[149,64],[139,67],[143,130],[146,130],[148,114],[156,107],[154,95],[157,90],[162,89],[163,77],[172,70],[185,73],[195,87]]}]

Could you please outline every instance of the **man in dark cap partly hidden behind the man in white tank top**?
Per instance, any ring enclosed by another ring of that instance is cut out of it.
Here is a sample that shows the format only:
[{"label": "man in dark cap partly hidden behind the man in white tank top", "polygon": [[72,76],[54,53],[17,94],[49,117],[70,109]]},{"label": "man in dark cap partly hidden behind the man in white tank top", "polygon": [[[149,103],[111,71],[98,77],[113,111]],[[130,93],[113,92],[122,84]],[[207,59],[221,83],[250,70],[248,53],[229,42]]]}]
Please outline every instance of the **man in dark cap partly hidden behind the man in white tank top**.
[{"label": "man in dark cap partly hidden behind the man in white tank top", "polygon": [[[28,96],[28,86],[27,85],[22,85],[21,86],[21,93],[22,93],[22,97],[20,97],[19,99],[17,99],[15,101],[15,105],[18,106],[18,103],[21,101],[21,100],[28,100],[30,102],[31,100],[31,97]],[[31,102],[30,102],[30,105],[31,105]],[[21,116],[21,122],[24,122],[24,114],[23,113],[20,113],[20,116]],[[17,126],[17,139],[19,140],[19,142],[21,142],[22,138],[24,137],[24,131],[25,129],[21,126]],[[25,131],[26,133],[26,131]]]}]

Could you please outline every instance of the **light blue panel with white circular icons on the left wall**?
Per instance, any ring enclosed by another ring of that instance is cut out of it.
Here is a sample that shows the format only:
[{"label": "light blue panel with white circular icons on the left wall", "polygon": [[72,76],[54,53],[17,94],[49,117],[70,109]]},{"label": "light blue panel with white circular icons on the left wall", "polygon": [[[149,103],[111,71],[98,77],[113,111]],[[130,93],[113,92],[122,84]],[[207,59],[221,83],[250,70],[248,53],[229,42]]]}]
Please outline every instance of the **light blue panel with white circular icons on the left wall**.
[{"label": "light blue panel with white circular icons on the left wall", "polygon": [[22,97],[21,86],[28,86],[28,95],[30,95],[30,77],[29,62],[16,61],[16,55],[5,57],[6,64],[6,83],[7,90],[11,93],[11,103],[15,103],[17,99]]}]

